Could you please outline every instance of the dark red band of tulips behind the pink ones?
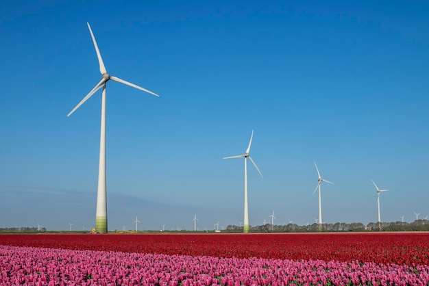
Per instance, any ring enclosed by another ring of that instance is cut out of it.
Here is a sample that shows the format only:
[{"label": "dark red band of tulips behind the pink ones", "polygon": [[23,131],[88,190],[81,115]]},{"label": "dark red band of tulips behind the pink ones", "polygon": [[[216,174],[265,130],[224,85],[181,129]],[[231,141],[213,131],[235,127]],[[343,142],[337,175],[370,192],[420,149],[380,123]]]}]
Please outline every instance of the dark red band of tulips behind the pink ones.
[{"label": "dark red band of tulips behind the pink ones", "polygon": [[428,233],[0,235],[0,245],[429,265]]}]

